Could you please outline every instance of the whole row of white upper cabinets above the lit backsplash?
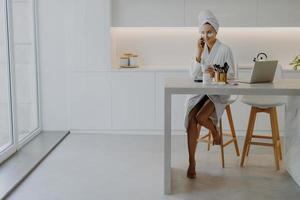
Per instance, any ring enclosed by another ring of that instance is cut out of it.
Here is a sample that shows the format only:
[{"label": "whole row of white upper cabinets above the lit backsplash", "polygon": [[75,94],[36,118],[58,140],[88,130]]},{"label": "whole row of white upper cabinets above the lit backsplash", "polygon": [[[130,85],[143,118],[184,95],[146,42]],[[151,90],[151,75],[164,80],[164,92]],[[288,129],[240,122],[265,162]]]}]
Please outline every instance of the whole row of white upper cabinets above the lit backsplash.
[{"label": "whole row of white upper cabinets above the lit backsplash", "polygon": [[300,27],[299,0],[111,0],[112,26],[198,26],[211,10],[222,27]]}]

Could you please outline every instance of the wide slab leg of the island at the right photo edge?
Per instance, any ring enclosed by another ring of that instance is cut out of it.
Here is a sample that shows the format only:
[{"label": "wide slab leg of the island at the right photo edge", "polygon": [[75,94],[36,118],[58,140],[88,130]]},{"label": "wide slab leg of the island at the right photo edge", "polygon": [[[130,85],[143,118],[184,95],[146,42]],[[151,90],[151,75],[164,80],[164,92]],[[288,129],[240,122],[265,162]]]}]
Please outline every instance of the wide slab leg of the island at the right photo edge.
[{"label": "wide slab leg of the island at the right photo edge", "polygon": [[287,98],[285,126],[285,167],[300,186],[300,96]]}]

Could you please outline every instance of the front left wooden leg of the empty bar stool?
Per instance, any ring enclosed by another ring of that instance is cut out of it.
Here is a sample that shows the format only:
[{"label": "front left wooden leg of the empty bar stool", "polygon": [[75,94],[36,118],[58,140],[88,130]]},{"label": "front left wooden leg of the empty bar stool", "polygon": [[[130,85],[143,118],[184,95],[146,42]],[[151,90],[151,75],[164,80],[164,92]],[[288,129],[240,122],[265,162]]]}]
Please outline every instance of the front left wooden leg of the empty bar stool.
[{"label": "front left wooden leg of the empty bar stool", "polygon": [[247,128],[246,138],[245,138],[244,147],[243,147],[243,154],[242,154],[242,159],[241,159],[241,164],[240,164],[241,167],[244,166],[245,156],[246,156],[246,153],[250,146],[250,140],[251,140],[251,136],[252,136],[254,124],[255,124],[255,119],[256,119],[256,112],[257,112],[256,108],[251,107],[248,128]]}]

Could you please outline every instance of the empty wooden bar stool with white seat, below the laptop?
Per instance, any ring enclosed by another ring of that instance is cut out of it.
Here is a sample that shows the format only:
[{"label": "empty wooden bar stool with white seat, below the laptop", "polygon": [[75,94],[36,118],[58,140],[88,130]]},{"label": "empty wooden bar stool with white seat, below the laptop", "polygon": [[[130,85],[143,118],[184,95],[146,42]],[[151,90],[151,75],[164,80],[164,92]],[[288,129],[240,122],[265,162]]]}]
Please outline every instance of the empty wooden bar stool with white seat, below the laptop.
[{"label": "empty wooden bar stool with white seat, below the laptop", "polygon": [[[243,154],[241,159],[241,167],[244,166],[245,157],[249,155],[250,145],[260,145],[273,147],[276,169],[279,170],[279,161],[282,160],[282,151],[278,127],[278,118],[276,107],[285,103],[284,97],[279,96],[244,96],[242,102],[251,106],[250,117],[246,138],[243,147]],[[270,115],[271,135],[255,135],[253,134],[255,120],[257,113],[267,113]],[[257,139],[270,139],[272,143],[252,141]]]}]

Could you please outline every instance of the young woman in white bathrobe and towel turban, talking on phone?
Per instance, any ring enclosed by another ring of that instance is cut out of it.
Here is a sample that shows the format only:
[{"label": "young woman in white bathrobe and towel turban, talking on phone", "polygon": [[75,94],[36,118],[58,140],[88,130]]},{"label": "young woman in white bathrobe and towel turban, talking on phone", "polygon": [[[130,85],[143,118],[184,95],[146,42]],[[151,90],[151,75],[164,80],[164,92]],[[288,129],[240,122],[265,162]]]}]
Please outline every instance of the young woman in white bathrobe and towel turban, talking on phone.
[{"label": "young woman in white bathrobe and towel turban, talking on phone", "polygon": [[[204,10],[199,14],[200,39],[197,44],[197,55],[193,59],[190,69],[192,78],[202,78],[203,72],[208,72],[214,76],[213,65],[223,66],[225,62],[229,65],[228,78],[234,78],[234,60],[231,49],[217,39],[219,23],[217,18],[209,10]],[[213,144],[219,145],[220,135],[217,123],[221,118],[228,95],[196,95],[187,99],[185,127],[188,140],[189,167],[187,177],[196,177],[195,151],[197,139],[201,127],[209,129],[213,136]]]}]

